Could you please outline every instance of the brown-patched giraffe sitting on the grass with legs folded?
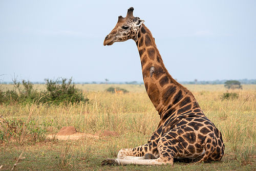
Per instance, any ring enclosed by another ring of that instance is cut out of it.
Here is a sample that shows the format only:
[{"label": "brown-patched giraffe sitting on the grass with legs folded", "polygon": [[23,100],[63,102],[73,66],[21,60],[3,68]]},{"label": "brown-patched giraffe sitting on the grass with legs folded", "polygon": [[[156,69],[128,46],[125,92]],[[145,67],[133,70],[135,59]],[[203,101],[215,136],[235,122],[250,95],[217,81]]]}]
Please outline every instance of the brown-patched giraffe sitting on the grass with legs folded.
[{"label": "brown-patched giraffe sitting on the grass with legs folded", "polygon": [[101,164],[220,161],[225,148],[221,132],[204,115],[195,96],[170,76],[150,30],[143,24],[144,20],[133,16],[133,10],[131,7],[126,17],[118,17],[103,45],[128,39],[136,42],[146,93],[160,116],[160,122],[147,144],[121,149],[117,159],[106,159]]}]

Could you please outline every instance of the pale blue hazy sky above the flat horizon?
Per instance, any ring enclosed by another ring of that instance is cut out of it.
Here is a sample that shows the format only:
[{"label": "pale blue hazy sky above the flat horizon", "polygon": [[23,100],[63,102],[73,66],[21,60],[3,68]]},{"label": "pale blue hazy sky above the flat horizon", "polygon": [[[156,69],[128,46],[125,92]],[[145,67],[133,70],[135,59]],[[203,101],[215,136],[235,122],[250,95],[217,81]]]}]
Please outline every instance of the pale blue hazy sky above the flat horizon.
[{"label": "pale blue hazy sky above the flat horizon", "polygon": [[178,81],[256,79],[256,1],[151,0],[0,0],[0,79],[141,82],[133,40],[103,46],[130,7]]}]

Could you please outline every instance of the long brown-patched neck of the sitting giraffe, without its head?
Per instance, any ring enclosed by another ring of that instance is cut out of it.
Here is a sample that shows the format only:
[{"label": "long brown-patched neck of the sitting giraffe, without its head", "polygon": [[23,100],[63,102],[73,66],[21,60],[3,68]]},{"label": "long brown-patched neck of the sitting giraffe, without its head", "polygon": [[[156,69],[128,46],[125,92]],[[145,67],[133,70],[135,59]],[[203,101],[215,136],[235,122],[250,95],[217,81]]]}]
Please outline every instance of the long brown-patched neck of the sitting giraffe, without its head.
[{"label": "long brown-patched neck of the sitting giraffe, without its head", "polygon": [[[170,108],[173,110],[176,107],[177,109],[181,108],[180,103],[187,96],[190,98],[188,103],[195,102],[194,95],[168,73],[155,40],[144,24],[135,41],[140,55],[145,89],[160,117],[162,118],[162,114]],[[187,105],[187,103],[183,102],[182,105]]]}]

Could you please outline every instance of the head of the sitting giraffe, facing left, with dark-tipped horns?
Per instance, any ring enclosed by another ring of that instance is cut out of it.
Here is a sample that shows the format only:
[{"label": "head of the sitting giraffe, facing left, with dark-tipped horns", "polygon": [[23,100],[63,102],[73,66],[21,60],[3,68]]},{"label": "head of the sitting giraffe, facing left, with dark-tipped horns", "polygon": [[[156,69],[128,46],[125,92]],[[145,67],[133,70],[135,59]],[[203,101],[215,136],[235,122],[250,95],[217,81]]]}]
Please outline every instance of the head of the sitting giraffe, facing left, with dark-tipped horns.
[{"label": "head of the sitting giraffe, facing left, with dark-tipped horns", "polygon": [[134,8],[131,7],[127,11],[126,17],[121,15],[118,17],[118,22],[115,28],[106,35],[103,45],[113,45],[116,41],[126,41],[128,39],[137,40],[139,28],[144,20],[133,16]]}]

